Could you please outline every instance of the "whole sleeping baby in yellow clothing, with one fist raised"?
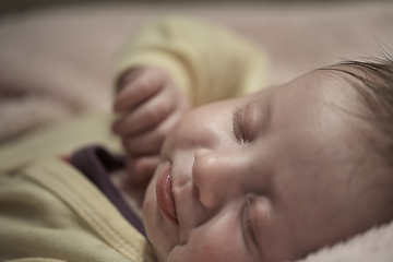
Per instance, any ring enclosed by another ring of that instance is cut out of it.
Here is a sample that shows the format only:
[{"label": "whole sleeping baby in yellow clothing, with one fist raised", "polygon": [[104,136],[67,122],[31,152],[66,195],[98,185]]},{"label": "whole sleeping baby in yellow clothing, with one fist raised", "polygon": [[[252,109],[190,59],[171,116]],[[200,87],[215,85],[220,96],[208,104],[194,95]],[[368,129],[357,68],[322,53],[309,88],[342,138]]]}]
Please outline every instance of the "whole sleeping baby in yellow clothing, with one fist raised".
[{"label": "whole sleeping baby in yellow clothing, with one fist raised", "polygon": [[284,262],[390,223],[393,61],[269,87],[266,64],[201,22],[141,31],[116,76],[126,158],[90,147],[3,168],[1,258]]}]

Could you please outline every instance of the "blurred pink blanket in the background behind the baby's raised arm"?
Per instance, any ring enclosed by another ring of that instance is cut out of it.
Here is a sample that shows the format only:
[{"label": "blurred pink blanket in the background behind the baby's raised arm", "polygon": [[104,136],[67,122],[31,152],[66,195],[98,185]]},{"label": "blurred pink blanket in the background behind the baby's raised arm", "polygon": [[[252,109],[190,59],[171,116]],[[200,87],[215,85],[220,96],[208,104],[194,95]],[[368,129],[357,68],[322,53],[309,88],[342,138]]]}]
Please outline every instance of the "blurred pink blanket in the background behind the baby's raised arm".
[{"label": "blurred pink blanket in the background behind the baby's raised arm", "polygon": [[[186,13],[263,46],[272,84],[392,43],[393,4],[84,5],[0,20],[0,141],[85,110],[108,110],[116,50],[143,23]],[[377,40],[378,39],[378,40]]]}]

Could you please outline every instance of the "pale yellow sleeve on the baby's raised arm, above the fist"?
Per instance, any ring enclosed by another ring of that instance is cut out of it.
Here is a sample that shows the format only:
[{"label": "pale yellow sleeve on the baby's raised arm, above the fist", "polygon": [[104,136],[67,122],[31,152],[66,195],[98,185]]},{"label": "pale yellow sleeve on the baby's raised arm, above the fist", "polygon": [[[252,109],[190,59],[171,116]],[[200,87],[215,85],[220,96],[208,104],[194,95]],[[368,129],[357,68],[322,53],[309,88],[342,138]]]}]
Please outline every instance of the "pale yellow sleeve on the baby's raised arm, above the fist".
[{"label": "pale yellow sleeve on the baby's raised arm, above the fist", "polygon": [[121,52],[117,78],[131,68],[166,70],[194,106],[261,90],[267,58],[228,29],[169,17],[142,29]]}]

